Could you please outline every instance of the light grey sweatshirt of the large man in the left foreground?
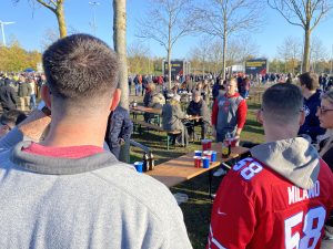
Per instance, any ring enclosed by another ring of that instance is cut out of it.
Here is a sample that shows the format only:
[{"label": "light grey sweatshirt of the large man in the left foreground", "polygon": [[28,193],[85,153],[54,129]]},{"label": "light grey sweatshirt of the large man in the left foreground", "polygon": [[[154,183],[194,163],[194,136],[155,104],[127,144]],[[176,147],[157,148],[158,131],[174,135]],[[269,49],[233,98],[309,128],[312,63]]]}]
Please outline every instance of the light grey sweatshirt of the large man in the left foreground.
[{"label": "light grey sweatshirt of the large man in the left foreground", "polygon": [[69,159],[0,154],[0,248],[186,249],[170,190],[111,153]]}]

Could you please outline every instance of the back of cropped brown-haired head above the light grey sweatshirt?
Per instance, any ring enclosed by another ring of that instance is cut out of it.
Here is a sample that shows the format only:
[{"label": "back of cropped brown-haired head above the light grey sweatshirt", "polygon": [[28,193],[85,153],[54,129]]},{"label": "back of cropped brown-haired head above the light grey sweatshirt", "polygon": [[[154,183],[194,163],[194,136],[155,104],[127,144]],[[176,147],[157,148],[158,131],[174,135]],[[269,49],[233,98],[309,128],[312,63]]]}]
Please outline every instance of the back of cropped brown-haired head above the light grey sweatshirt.
[{"label": "back of cropped brown-haired head above the light grey sweatshirt", "polygon": [[103,41],[89,34],[60,39],[43,53],[42,62],[53,101],[81,107],[110,104],[118,60]]}]

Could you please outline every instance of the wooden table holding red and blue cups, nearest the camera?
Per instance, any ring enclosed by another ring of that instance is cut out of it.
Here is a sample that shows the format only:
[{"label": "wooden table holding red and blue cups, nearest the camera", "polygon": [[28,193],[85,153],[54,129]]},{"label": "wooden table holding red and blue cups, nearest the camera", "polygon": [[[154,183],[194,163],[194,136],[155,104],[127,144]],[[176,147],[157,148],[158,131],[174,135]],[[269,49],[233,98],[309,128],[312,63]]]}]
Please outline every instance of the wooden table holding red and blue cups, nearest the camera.
[{"label": "wooden table holding red and blue cups, nearest the camera", "polygon": [[[226,163],[231,159],[238,158],[242,154],[249,152],[249,148],[245,147],[232,147],[231,154],[228,158],[222,158],[222,147],[221,143],[212,144],[212,151],[218,153],[216,162],[210,164],[209,168],[195,168],[194,167],[194,152],[189,153],[186,155],[180,156],[178,158],[168,160],[163,164],[154,167],[153,170],[148,172],[147,174],[163,183],[167,187],[173,187],[182,181],[191,179],[198,175],[201,175],[205,172],[212,170],[215,167],[219,167],[221,163]],[[210,172],[211,173],[211,172]],[[211,177],[211,175],[210,175]],[[211,184],[211,179],[210,179]],[[211,186],[210,186],[211,194]]]}]

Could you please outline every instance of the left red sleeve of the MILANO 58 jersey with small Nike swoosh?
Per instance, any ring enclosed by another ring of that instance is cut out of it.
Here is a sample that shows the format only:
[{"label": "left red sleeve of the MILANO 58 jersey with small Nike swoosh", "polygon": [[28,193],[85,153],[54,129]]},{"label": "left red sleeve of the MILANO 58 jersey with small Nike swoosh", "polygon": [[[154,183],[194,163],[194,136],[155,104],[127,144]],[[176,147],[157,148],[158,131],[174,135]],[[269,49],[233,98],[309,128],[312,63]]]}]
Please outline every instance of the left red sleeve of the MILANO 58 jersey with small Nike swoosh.
[{"label": "left red sleeve of the MILANO 58 jersey with small Nike swoosh", "polygon": [[253,201],[246,193],[246,183],[235,173],[224,177],[213,204],[206,249],[246,248],[256,222]]}]

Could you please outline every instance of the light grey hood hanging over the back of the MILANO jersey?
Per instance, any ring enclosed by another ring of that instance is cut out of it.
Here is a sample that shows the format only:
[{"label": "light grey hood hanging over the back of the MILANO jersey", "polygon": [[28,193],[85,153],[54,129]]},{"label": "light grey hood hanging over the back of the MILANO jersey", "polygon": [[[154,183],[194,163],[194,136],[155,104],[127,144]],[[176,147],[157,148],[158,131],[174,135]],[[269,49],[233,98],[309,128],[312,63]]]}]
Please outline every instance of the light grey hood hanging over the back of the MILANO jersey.
[{"label": "light grey hood hanging over the back of the MILANO jersey", "polygon": [[319,153],[303,137],[261,144],[250,152],[254,158],[301,188],[312,188],[317,179]]}]

